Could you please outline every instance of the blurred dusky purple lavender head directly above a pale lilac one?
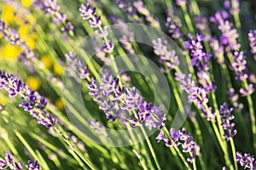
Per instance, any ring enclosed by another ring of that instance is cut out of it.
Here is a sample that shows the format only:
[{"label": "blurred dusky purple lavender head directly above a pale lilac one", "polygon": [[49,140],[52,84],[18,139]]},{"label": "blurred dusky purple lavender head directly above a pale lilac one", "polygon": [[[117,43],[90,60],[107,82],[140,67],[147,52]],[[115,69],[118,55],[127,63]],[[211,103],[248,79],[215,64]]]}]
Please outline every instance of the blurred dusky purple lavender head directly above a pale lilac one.
[{"label": "blurred dusky purple lavender head directly above a pale lilac one", "polygon": [[172,38],[179,39],[184,36],[183,31],[181,30],[182,24],[178,18],[174,18],[171,14],[168,14],[166,18],[166,27],[169,28],[169,33]]}]

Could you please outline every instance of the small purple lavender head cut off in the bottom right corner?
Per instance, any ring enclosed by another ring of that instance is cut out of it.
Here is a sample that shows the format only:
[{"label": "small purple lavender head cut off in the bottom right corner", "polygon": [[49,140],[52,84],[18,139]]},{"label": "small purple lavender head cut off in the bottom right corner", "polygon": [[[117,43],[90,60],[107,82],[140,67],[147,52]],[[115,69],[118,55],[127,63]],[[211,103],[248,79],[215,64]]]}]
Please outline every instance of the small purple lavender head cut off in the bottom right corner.
[{"label": "small purple lavender head cut off in the bottom right corner", "polygon": [[236,152],[236,161],[238,161],[241,165],[241,167],[247,168],[247,169],[256,169],[256,161],[254,160],[254,157],[251,156],[248,153],[245,153],[243,156],[241,152]]}]

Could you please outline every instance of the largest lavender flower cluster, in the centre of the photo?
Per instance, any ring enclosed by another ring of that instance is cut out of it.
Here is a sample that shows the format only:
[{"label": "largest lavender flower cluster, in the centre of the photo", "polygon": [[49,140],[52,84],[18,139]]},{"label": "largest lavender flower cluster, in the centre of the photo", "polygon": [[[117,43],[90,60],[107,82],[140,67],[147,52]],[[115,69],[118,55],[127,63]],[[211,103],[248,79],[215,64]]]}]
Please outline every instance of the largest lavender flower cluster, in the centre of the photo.
[{"label": "largest lavender flower cluster, in the centre of the photo", "polygon": [[113,79],[108,71],[104,72],[100,86],[94,78],[91,78],[88,88],[89,94],[94,96],[94,100],[100,105],[99,108],[112,122],[119,118],[124,127],[127,122],[134,126],[145,122],[149,129],[152,127],[161,129],[165,126],[166,114],[162,112],[161,107],[144,101],[137,88],[120,86],[119,78]]}]

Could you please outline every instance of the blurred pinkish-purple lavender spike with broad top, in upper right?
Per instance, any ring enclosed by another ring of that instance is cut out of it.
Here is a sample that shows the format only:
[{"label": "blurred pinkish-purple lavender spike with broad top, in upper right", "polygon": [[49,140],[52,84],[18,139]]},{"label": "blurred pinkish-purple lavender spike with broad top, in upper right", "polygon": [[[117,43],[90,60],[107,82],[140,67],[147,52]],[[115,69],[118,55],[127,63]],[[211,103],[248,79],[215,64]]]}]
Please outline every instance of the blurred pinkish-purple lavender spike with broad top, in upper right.
[{"label": "blurred pinkish-purple lavender spike with broad top, in upper right", "polygon": [[218,30],[222,32],[220,42],[228,48],[230,52],[238,51],[241,44],[237,41],[239,34],[233,28],[232,23],[228,20],[229,14],[225,11],[217,12],[210,20],[218,26]]}]

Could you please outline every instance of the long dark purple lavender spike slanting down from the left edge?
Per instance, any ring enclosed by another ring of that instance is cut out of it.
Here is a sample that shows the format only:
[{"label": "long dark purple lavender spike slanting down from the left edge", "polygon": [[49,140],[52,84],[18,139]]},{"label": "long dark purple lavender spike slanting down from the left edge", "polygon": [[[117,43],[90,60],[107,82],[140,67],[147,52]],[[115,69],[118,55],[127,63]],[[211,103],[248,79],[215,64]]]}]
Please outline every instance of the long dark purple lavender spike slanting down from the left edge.
[{"label": "long dark purple lavender spike slanting down from the left edge", "polygon": [[35,117],[39,124],[48,128],[55,124],[55,118],[45,111],[46,99],[26,86],[18,77],[0,71],[0,89],[8,91],[10,97],[15,97],[19,94],[23,100],[19,106]]}]

